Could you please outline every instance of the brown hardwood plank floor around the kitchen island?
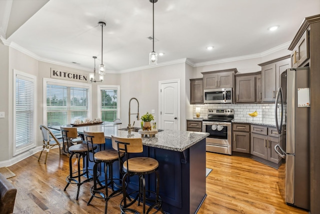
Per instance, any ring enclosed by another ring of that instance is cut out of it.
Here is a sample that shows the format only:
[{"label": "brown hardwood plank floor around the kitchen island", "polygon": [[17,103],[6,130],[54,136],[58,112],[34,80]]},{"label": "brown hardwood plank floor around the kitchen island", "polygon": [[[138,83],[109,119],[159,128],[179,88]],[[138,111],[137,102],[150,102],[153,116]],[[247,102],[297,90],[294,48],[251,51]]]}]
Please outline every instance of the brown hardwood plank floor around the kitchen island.
[{"label": "brown hardwood plank floor around the kitchen island", "polygon": [[[92,182],[81,186],[78,200],[75,200],[76,185],[70,184],[63,191],[69,169],[66,155],[51,149],[46,164],[43,163],[45,155],[40,162],[38,155],[8,167],[16,174],[9,178],[17,188],[13,213],[104,212],[102,199],[93,198],[91,204],[86,205]],[[212,171],[206,178],[207,196],[198,214],[308,213],[285,204],[281,196],[284,191],[283,164],[276,170],[249,158],[207,152],[206,167]],[[109,200],[108,213],[120,213],[120,198]]]}]

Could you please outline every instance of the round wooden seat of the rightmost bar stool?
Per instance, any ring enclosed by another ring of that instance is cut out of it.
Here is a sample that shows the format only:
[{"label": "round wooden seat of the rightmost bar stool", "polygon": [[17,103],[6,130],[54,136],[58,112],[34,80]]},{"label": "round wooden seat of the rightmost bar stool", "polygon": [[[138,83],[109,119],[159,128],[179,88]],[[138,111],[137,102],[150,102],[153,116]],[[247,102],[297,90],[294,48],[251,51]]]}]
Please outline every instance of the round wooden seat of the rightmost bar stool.
[{"label": "round wooden seat of the rightmost bar stool", "polygon": [[[128,160],[130,172],[148,172],[155,170],[159,163],[157,160],[150,157],[133,157]],[[126,161],[123,163],[123,171],[127,172]]]}]

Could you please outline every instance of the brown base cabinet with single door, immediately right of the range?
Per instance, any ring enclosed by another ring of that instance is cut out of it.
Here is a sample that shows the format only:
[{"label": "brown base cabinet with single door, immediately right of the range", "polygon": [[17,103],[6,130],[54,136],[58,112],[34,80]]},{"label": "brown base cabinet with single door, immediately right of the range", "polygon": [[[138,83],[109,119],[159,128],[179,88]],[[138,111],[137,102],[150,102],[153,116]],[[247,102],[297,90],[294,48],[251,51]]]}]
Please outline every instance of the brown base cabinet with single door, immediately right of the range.
[{"label": "brown base cabinet with single door, immediately right of the range", "polygon": [[250,124],[232,123],[232,151],[250,153]]}]

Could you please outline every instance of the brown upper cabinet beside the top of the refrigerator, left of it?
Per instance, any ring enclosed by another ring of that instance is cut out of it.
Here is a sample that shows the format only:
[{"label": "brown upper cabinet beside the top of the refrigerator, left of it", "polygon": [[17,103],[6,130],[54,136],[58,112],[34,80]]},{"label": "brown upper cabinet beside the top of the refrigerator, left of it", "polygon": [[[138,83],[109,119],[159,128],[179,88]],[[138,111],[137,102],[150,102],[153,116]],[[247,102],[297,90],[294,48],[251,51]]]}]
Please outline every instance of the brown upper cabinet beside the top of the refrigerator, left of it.
[{"label": "brown upper cabinet beside the top of the refrigerator, left of it", "polygon": [[261,100],[274,102],[280,75],[290,67],[290,55],[259,64],[261,66]]}]

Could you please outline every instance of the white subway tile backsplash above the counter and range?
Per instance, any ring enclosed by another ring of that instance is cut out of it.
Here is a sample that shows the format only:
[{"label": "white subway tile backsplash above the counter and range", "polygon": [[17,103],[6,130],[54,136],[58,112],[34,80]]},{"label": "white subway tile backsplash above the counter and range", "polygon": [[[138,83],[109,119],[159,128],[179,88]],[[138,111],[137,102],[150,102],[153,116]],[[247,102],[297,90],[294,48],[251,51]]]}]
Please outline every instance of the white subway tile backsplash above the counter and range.
[{"label": "white subway tile backsplash above the counter and range", "polygon": [[[200,107],[200,117],[207,118],[208,109],[234,109],[234,119],[246,120],[250,118],[248,113],[257,111],[258,116],[255,118],[275,123],[274,119],[274,103],[266,104],[202,104],[193,105],[193,117],[195,116],[195,108]],[[284,105],[283,111],[286,112],[286,106]],[[283,114],[283,121],[285,121],[285,113]]]}]

